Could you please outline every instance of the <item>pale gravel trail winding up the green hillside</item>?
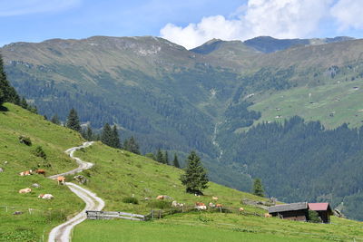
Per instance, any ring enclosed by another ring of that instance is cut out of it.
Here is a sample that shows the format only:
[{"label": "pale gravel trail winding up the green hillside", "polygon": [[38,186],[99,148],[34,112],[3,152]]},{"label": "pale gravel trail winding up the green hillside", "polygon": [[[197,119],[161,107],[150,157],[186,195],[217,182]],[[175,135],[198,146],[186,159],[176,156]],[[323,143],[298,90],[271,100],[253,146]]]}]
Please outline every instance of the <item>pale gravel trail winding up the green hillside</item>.
[{"label": "pale gravel trail winding up the green hillside", "polygon": [[[91,146],[93,142],[84,142],[83,145],[78,147],[73,147],[71,149],[65,150],[65,153],[69,154],[69,156],[74,159],[77,164],[79,165],[78,168],[72,169],[70,171],[57,174],[54,176],[48,177],[49,179],[56,179],[59,176],[65,175],[73,175],[77,172],[81,172],[83,169],[90,169],[93,167],[93,163],[83,161],[77,157],[74,157],[74,152],[76,150],[80,150],[82,148],[87,148]],[[48,242],[68,242],[71,241],[71,233],[72,229],[79,223],[83,222],[86,219],[86,210],[102,210],[104,207],[104,201],[102,198],[98,198],[96,194],[93,192],[83,189],[82,187],[72,183],[72,182],[65,182],[65,185],[71,189],[75,195],[79,198],[83,199],[85,202],[85,208],[74,216],[74,218],[69,219],[68,221],[64,222],[63,224],[54,227],[49,234]]]}]

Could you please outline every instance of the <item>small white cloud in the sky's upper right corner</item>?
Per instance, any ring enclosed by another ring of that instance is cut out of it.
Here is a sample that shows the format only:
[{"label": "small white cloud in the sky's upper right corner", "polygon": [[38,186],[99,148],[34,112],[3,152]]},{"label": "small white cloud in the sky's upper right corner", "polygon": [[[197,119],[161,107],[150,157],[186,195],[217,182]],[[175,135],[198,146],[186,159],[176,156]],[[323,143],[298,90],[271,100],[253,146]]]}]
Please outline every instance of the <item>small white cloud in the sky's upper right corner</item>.
[{"label": "small white cloud in the sky's upper right corner", "polygon": [[337,19],[339,30],[348,28],[361,29],[363,28],[362,9],[362,0],[339,0],[331,8],[330,13]]}]

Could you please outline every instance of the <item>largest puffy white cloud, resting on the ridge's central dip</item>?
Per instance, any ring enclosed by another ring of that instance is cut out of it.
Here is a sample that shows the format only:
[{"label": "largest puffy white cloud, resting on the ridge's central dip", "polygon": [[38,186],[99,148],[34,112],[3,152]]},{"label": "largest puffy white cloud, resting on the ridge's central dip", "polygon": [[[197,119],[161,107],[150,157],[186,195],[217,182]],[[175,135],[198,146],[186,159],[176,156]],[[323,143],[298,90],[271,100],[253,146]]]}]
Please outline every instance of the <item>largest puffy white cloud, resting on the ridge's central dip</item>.
[{"label": "largest puffy white cloud, resting on the ridge's central dip", "polygon": [[333,0],[250,0],[230,18],[208,16],[186,27],[166,24],[161,35],[187,49],[211,38],[246,40],[260,35],[301,38],[317,31],[332,3]]}]

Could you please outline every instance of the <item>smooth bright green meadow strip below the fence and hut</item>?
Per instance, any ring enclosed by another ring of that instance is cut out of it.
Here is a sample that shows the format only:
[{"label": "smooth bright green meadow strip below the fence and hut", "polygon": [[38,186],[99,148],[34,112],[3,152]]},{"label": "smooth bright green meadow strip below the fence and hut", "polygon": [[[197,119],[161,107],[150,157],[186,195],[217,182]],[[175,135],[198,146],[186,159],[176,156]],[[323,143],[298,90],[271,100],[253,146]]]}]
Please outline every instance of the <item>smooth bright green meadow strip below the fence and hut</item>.
[{"label": "smooth bright green meadow strip below the fence and hut", "polygon": [[195,212],[151,222],[87,220],[76,227],[73,241],[363,241],[362,227],[342,218],[311,224]]}]

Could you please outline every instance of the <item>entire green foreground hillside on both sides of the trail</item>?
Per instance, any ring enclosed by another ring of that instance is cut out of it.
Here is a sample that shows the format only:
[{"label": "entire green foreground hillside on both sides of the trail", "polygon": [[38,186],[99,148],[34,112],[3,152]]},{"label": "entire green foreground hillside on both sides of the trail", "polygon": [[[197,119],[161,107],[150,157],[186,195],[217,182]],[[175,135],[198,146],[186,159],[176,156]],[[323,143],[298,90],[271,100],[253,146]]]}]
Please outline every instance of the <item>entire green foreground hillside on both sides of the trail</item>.
[{"label": "entire green foreground hillside on both sides of the trail", "polygon": [[[74,169],[76,163],[64,150],[83,143],[80,134],[44,120],[41,115],[26,111],[12,103],[5,103],[0,111],[0,240],[2,241],[43,241],[51,227],[63,223],[74,213],[80,212],[84,204],[67,186],[57,186],[56,182],[43,175],[21,177],[19,171],[41,168],[47,175]],[[19,136],[32,141],[31,146],[19,142]],[[47,158],[35,155],[41,146]],[[240,237],[259,241],[301,241],[314,238],[353,240],[363,237],[361,223],[344,218],[331,218],[331,225],[291,222],[278,218],[264,218],[264,209],[242,204],[243,199],[268,202],[236,189],[230,189],[210,182],[204,196],[188,194],[179,180],[182,169],[164,165],[144,156],[126,150],[116,150],[95,142],[91,147],[75,152],[76,157],[94,162],[92,169],[83,170],[88,182],[82,186],[97,193],[106,202],[106,211],[123,211],[148,214],[151,209],[169,210],[172,199],[156,200],[158,195],[168,195],[185,209],[194,207],[196,200],[208,204],[211,197],[218,197],[226,213],[219,210],[191,211],[166,216],[148,222],[126,221],[122,219],[86,220],[76,226],[74,241],[120,241],[147,237],[154,241],[163,237],[172,241],[183,238],[228,238],[240,241]],[[7,162],[4,162],[7,161]],[[73,176],[67,176],[68,180]],[[41,187],[31,187],[38,183]],[[31,187],[33,192],[19,194],[18,189]],[[51,193],[53,200],[39,199],[40,193]],[[136,200],[137,204],[127,199]],[[243,207],[244,212],[237,209]],[[175,208],[173,208],[175,211]],[[17,211],[21,214],[14,215]],[[156,214],[156,212],[155,212]],[[192,221],[192,223],[190,222]],[[120,229],[120,227],[123,229]],[[281,231],[280,227],[286,227]],[[348,229],[346,229],[348,227]],[[127,229],[128,233],[125,233]],[[299,231],[299,233],[296,233]],[[327,236],[329,233],[329,236]]]}]

